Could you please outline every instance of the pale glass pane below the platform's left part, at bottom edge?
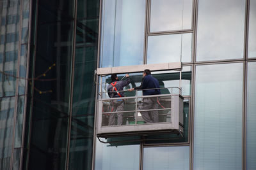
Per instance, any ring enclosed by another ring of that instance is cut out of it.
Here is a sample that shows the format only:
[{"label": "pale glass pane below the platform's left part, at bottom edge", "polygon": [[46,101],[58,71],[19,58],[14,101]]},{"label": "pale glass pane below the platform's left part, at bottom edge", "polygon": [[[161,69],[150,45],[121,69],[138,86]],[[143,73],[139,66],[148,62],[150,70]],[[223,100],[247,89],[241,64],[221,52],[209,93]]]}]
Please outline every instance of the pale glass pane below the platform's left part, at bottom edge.
[{"label": "pale glass pane below the platform's left part, at bottom edge", "polygon": [[139,169],[140,145],[110,146],[97,140],[95,170]]}]

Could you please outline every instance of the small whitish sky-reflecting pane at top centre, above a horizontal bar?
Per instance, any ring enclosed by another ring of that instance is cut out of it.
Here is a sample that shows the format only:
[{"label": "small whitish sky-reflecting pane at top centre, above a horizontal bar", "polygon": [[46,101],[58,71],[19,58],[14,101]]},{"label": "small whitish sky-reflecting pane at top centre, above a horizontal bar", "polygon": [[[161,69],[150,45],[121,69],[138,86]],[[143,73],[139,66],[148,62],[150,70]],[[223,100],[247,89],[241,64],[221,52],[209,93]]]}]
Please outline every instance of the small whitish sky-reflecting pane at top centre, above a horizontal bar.
[{"label": "small whitish sky-reflecting pane at top centre, above a horizontal bar", "polygon": [[[182,2],[184,3],[183,26]],[[192,4],[192,0],[152,0],[150,31],[191,29]]]}]

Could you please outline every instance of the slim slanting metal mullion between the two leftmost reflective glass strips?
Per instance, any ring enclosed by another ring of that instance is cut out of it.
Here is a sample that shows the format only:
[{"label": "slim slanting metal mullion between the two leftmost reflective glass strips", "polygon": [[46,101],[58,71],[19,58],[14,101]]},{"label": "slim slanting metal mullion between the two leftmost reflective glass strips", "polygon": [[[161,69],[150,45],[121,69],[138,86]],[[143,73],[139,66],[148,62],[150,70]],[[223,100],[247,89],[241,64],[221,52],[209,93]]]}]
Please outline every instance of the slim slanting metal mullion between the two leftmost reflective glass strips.
[{"label": "slim slanting metal mullion between the two leftmost reflective glass strips", "polygon": [[[19,5],[19,4],[17,4]],[[19,98],[19,69],[20,69],[20,43],[21,43],[21,32],[22,32],[22,8],[23,3],[20,0],[20,18],[19,18],[19,43],[18,43],[18,59],[17,59],[17,72],[16,72],[16,87],[15,87],[15,108],[13,113],[13,131],[12,131],[12,155],[10,160],[10,170],[13,169],[13,157],[14,157],[14,147],[15,147],[15,129],[16,129],[16,118],[17,118],[17,107]],[[18,9],[17,9],[18,10]]]}]

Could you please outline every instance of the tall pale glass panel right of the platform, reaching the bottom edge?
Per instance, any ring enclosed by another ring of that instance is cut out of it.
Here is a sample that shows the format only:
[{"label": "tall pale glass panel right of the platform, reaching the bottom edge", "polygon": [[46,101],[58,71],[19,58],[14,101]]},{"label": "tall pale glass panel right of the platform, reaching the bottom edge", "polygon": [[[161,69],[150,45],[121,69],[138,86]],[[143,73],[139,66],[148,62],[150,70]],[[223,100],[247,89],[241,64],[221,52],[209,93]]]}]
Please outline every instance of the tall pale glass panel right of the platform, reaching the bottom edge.
[{"label": "tall pale glass panel right of the platform, reaching the bottom edge", "polygon": [[194,169],[242,169],[243,63],[196,66]]}]

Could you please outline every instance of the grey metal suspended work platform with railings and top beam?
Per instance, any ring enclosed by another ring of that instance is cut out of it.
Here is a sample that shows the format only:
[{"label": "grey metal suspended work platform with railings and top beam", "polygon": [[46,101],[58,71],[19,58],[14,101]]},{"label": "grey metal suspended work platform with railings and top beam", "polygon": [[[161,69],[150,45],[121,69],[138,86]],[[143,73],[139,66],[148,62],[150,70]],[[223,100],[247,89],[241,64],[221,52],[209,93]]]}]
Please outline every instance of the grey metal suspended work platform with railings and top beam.
[{"label": "grey metal suspended work platform with railings and top beam", "polygon": [[[160,88],[160,95],[151,96],[143,96],[142,92],[137,90],[132,92],[124,90],[125,97],[115,98],[109,98],[106,90],[102,90],[104,89],[102,88],[103,76],[114,73],[138,73],[143,72],[144,69],[150,69],[150,71],[181,70],[182,64],[178,62],[97,69],[97,75],[100,76],[96,120],[98,138],[160,133],[177,133],[182,136],[184,97],[181,96],[180,87]],[[120,103],[122,104],[118,106]]]}]

